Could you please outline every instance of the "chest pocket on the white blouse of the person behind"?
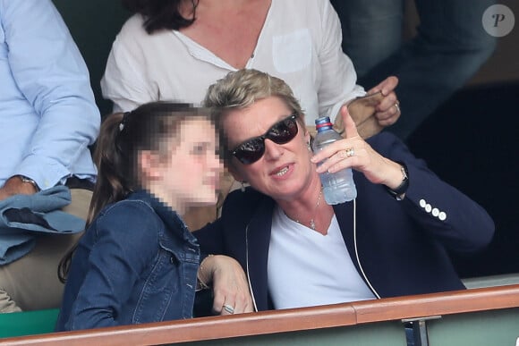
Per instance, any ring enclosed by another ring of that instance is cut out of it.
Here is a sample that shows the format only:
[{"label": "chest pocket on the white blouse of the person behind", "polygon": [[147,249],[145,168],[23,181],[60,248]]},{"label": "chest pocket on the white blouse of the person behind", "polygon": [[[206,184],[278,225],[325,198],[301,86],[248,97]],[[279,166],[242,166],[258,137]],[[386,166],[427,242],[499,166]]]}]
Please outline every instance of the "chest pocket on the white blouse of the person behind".
[{"label": "chest pocket on the white blouse of the person behind", "polygon": [[277,72],[300,71],[311,63],[311,35],[308,29],[272,39],[272,58]]}]

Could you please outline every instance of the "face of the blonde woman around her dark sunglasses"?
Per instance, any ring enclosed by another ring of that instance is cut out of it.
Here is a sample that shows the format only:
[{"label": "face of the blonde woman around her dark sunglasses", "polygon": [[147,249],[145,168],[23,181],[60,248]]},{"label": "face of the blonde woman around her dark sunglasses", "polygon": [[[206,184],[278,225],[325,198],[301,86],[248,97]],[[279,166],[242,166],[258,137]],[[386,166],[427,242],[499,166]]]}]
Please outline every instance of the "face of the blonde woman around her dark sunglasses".
[{"label": "face of the blonde woman around her dark sunglasses", "polygon": [[[267,97],[230,112],[223,122],[228,148],[236,148],[247,139],[265,134],[290,114],[290,108],[278,97]],[[297,135],[285,144],[265,139],[265,153],[251,165],[243,165],[233,157],[229,169],[234,178],[248,181],[256,190],[275,199],[296,197],[315,175],[306,144],[310,135],[299,122],[297,126],[300,127]]]}]

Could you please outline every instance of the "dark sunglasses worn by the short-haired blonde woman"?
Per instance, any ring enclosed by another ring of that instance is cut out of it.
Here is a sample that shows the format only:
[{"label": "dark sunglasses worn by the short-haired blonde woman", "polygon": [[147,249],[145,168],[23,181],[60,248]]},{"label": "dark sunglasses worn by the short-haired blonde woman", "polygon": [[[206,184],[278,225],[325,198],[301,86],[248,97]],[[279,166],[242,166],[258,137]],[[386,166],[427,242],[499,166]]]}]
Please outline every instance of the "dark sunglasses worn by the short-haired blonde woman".
[{"label": "dark sunglasses worn by the short-haired blonde woman", "polygon": [[296,118],[297,114],[292,114],[281,122],[276,122],[264,135],[245,140],[231,150],[231,154],[243,165],[255,163],[265,154],[265,139],[270,139],[276,144],[285,144],[294,139],[298,131]]}]

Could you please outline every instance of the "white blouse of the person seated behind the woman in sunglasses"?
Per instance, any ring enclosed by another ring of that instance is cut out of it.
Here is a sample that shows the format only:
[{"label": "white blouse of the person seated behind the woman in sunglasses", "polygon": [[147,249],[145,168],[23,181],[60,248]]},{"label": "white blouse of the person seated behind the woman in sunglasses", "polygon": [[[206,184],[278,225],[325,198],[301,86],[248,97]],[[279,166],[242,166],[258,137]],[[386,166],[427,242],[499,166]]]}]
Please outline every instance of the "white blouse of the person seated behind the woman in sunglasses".
[{"label": "white blouse of the person seated behind the woman in sunglasses", "polygon": [[[208,86],[235,68],[176,30],[149,35],[133,15],[115,38],[103,96],[114,111],[156,100],[200,104]],[[328,115],[365,92],[341,48],[338,16],[328,0],[272,0],[247,68],[287,82],[306,114],[306,123]]]}]

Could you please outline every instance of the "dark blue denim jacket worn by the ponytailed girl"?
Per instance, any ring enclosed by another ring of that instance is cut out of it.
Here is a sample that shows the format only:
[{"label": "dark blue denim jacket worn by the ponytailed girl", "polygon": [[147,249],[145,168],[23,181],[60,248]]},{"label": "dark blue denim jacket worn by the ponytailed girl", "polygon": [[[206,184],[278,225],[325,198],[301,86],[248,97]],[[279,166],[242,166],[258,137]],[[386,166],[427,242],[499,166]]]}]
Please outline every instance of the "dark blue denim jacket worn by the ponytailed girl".
[{"label": "dark blue denim jacket worn by the ponytailed girl", "polygon": [[140,190],[106,207],[72,258],[56,331],[191,318],[198,242]]}]

